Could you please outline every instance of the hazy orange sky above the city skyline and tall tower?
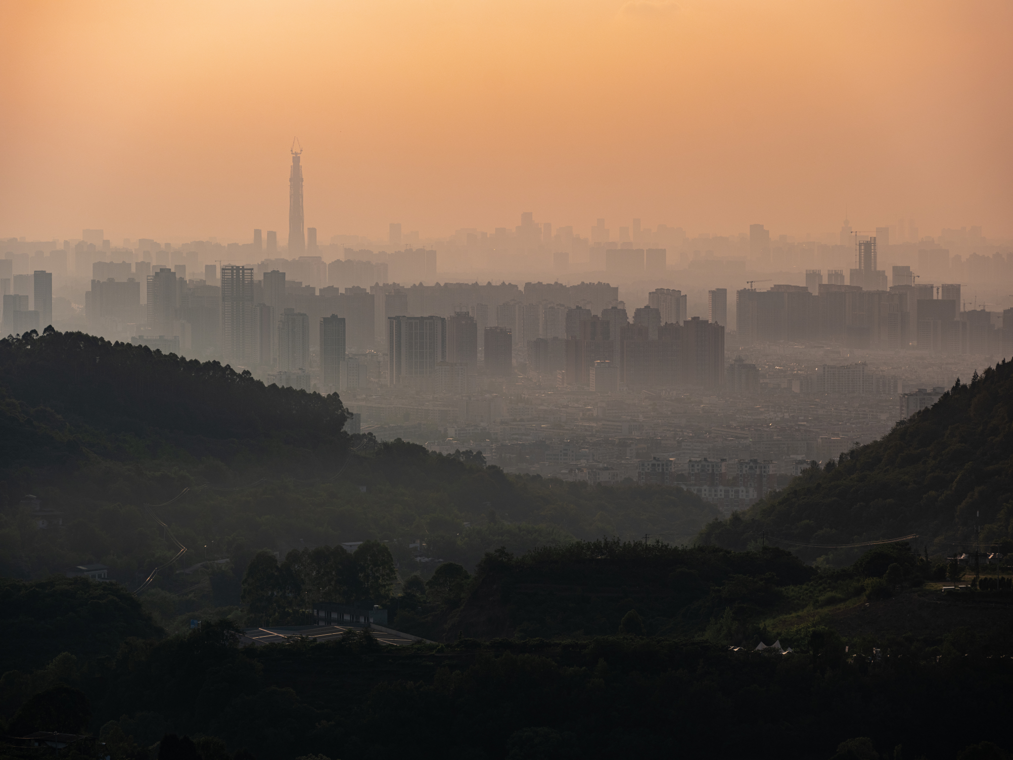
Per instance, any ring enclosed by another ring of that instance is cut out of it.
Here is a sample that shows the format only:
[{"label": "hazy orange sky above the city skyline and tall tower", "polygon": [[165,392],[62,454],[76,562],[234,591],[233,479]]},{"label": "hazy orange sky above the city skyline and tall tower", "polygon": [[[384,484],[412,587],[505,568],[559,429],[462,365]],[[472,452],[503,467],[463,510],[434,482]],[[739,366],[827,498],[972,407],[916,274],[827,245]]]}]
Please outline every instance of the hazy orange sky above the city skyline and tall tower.
[{"label": "hazy orange sky above the city skyline and tall tower", "polygon": [[1008,0],[0,3],[0,235],[1013,234]]}]

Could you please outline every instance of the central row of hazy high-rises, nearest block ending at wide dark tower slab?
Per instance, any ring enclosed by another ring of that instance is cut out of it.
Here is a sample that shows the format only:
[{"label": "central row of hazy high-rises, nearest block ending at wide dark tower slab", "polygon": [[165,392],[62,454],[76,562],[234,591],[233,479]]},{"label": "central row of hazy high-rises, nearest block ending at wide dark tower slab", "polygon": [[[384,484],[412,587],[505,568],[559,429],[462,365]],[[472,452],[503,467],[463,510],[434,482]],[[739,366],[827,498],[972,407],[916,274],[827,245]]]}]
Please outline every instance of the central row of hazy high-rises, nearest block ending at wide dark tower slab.
[{"label": "central row of hazy high-rises, nearest block ending at wide dark tower slab", "polygon": [[[526,295],[537,297],[538,285],[526,287]],[[636,309],[631,320],[622,302],[601,313],[550,301],[508,302],[496,308],[496,325],[480,327],[475,313],[487,315],[488,305],[476,307],[462,307],[450,317],[390,316],[390,384],[463,392],[474,388],[468,378],[479,370],[505,377],[518,365],[557,386],[606,393],[618,391],[621,383],[637,388],[724,384],[724,326],[699,317],[663,321],[660,310],[649,304]],[[453,369],[440,370],[441,363]],[[458,379],[452,386],[442,380],[434,385],[438,372]]]}]

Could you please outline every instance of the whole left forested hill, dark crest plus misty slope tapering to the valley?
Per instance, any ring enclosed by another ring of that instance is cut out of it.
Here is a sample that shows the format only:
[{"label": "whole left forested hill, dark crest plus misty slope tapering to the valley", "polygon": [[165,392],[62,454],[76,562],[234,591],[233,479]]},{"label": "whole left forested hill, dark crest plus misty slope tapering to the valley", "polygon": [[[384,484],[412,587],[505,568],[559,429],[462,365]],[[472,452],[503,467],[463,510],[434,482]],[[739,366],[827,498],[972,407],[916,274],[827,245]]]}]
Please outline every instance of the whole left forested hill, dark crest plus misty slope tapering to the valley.
[{"label": "whole left forested hill, dark crest plus misty slope tapering to the valley", "polygon": [[[718,514],[676,488],[508,475],[472,452],[400,441],[360,436],[353,447],[345,416],[336,394],[265,387],[214,362],[82,333],[0,340],[0,575],[100,562],[136,588],[178,551],[157,517],[189,547],[176,569],[206,549],[237,560],[232,592],[213,598],[206,585],[182,614],[237,605],[239,558],[259,549],[382,540],[407,577],[434,560],[473,566],[498,546],[644,533],[688,542]],[[62,526],[40,528],[31,503],[19,504],[28,493]],[[409,549],[419,539],[427,563]]]}]

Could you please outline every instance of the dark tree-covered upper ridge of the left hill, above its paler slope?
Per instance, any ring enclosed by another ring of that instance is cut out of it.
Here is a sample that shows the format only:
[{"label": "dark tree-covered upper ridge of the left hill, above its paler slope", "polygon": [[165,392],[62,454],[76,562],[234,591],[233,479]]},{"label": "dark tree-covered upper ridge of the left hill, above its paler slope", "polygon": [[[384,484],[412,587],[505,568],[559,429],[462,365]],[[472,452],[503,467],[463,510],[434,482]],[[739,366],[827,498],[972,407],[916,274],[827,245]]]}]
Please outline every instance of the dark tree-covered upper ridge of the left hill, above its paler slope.
[{"label": "dark tree-covered upper ridge of the left hill, above its paler slope", "polygon": [[[26,408],[45,407],[73,428],[96,432],[88,441],[87,432],[75,431],[77,442],[103,446],[103,455],[169,443],[200,456],[201,441],[203,448],[219,450],[213,442],[270,440],[310,450],[347,446],[341,433],[347,415],[336,393],[264,386],[248,371],[218,362],[187,361],[82,332],[47,330],[37,337],[0,340],[0,384]],[[10,415],[17,411],[6,406],[5,429],[16,429]],[[56,422],[52,414],[49,420]],[[9,453],[33,457],[16,448]]]}]

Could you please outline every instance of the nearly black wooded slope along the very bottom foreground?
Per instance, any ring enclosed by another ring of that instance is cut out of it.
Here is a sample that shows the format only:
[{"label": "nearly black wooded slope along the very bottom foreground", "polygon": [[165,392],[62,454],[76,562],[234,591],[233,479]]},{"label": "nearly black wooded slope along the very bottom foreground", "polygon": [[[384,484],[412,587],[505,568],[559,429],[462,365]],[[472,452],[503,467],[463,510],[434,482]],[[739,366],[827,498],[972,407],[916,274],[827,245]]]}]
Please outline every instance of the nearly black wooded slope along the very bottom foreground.
[{"label": "nearly black wooded slope along the very bottom foreground", "polygon": [[[11,674],[23,688],[3,717],[60,673],[87,698],[90,730],[128,745],[112,748],[116,760],[154,754],[141,748],[166,733],[218,738],[213,757],[277,760],[951,760],[982,741],[1009,746],[1008,640],[880,647],[846,652],[821,631],[790,656],[636,634],[404,648],[350,635],[239,650],[230,626],[206,622],[87,668],[62,658]],[[943,706],[947,695],[959,711]],[[857,751],[835,755],[843,743]]]}]

